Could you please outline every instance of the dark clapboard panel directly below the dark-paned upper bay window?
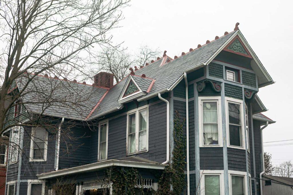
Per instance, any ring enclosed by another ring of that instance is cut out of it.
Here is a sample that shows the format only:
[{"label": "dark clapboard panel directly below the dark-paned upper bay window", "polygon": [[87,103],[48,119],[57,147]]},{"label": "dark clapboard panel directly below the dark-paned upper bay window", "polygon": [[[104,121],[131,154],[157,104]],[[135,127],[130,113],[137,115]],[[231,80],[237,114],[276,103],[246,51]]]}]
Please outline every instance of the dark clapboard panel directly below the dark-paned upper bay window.
[{"label": "dark clapboard panel directly below the dark-paned upper bay window", "polygon": [[246,171],[245,150],[227,148],[228,170]]}]

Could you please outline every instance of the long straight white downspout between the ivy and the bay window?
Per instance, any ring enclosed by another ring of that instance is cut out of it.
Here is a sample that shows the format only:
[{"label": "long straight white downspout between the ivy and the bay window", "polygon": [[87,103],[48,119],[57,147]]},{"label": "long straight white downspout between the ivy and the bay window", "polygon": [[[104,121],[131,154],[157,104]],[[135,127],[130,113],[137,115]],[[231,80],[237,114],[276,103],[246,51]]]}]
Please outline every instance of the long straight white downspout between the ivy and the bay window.
[{"label": "long straight white downspout between the ivy and the bay window", "polygon": [[185,99],[186,99],[186,172],[187,172],[187,195],[190,195],[190,178],[189,178],[189,113],[188,113],[188,81],[187,73],[184,72],[185,80]]}]

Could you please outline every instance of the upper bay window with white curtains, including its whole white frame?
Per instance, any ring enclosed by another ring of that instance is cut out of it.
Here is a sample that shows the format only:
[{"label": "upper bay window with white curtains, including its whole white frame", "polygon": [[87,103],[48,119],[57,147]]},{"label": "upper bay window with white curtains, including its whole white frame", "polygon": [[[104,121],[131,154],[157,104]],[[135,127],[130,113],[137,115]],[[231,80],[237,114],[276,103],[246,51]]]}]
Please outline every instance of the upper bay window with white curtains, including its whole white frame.
[{"label": "upper bay window with white curtains, including its whole white frame", "polygon": [[200,146],[221,146],[221,97],[199,97]]}]

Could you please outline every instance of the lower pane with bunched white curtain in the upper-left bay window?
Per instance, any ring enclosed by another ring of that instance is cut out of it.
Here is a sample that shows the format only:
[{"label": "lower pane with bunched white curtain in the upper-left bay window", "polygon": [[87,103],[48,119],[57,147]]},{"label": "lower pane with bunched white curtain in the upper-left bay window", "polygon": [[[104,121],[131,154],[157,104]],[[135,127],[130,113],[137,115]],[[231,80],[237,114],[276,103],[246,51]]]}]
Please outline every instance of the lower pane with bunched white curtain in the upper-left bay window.
[{"label": "lower pane with bunched white curtain in the upper-left bay window", "polygon": [[218,125],[217,124],[204,124],[203,125],[203,140],[205,145],[219,144],[218,142]]}]

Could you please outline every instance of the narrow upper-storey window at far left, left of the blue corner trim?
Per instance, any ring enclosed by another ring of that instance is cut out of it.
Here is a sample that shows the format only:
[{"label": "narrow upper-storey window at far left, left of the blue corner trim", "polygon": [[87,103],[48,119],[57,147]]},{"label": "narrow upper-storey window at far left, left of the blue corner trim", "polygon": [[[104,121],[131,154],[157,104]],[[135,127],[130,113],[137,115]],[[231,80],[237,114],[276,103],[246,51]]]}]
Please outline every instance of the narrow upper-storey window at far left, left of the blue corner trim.
[{"label": "narrow upper-storey window at far left, left of the blue corner trim", "polygon": [[10,163],[17,162],[18,156],[18,142],[19,142],[19,126],[13,127],[10,131]]}]

